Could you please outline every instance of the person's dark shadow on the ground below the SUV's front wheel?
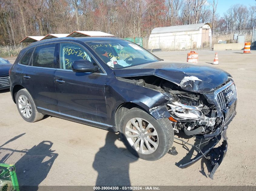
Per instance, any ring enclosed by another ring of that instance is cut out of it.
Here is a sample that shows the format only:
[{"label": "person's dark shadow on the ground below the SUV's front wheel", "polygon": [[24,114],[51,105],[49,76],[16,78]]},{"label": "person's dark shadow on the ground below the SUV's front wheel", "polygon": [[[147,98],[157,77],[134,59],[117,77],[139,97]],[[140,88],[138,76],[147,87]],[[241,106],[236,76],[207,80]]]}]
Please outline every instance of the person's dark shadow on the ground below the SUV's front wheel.
[{"label": "person's dark shadow on the ground below the SUV's front wheel", "polygon": [[[96,186],[130,186],[129,165],[138,160],[126,148],[118,148],[119,134],[108,132],[106,142],[95,155],[93,168],[97,170]],[[139,169],[138,169],[139,170]]]}]

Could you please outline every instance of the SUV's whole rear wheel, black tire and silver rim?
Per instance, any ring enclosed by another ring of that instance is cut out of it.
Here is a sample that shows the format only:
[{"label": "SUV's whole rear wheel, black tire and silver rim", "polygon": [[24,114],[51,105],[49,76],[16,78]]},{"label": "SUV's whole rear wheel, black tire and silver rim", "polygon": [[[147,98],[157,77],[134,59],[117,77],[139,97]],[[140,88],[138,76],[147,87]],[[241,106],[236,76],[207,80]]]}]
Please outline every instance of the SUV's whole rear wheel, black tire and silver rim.
[{"label": "SUV's whole rear wheel, black tire and silver rim", "polygon": [[18,112],[25,121],[33,123],[43,119],[44,114],[37,111],[34,100],[26,89],[19,90],[15,100]]}]

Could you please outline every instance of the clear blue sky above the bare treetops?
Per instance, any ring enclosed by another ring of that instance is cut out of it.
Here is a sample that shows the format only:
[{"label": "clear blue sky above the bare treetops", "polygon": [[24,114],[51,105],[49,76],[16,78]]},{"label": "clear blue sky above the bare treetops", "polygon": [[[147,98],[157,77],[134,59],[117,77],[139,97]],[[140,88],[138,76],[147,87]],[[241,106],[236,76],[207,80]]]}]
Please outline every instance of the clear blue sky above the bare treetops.
[{"label": "clear blue sky above the bare treetops", "polygon": [[[208,2],[211,2],[211,0],[208,0]],[[219,0],[217,12],[222,17],[224,12],[226,12],[231,5],[242,4],[249,8],[250,5],[255,5],[255,2],[255,0]]]}]

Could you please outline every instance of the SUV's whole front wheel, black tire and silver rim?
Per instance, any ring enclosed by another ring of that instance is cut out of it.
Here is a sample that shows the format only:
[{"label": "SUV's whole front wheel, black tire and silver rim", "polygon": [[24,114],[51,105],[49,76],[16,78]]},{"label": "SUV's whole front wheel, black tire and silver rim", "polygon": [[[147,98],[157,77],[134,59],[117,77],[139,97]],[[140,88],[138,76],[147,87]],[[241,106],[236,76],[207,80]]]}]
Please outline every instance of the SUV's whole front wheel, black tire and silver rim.
[{"label": "SUV's whole front wheel, black tire and silver rim", "polygon": [[171,148],[174,132],[169,119],[158,119],[132,108],[120,122],[120,137],[126,148],[138,158],[155,161]]}]

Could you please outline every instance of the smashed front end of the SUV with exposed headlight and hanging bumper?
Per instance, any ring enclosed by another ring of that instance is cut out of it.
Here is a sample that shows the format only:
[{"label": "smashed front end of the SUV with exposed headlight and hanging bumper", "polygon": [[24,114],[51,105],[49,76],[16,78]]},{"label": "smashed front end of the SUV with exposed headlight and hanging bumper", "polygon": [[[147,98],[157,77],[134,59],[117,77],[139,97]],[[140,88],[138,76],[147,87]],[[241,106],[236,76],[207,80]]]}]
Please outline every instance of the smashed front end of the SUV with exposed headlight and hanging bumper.
[{"label": "smashed front end of the SUV with exposed headlight and hanging bumper", "polygon": [[[201,80],[193,76],[185,77],[180,84],[153,75],[126,77],[122,80],[168,94],[165,105],[153,107],[149,112],[157,113],[156,119],[166,117],[168,112],[172,128],[178,136],[184,132],[185,135],[196,138],[192,145],[175,137],[198,152],[192,159],[181,160],[178,166],[185,168],[201,158],[206,158],[212,168],[209,177],[213,178],[227,151],[228,124],[236,114],[237,92],[232,79],[229,78],[219,87],[205,92],[188,91],[189,86],[193,90],[200,86]],[[221,146],[216,147],[221,139]],[[169,153],[177,154],[175,151]]]}]

